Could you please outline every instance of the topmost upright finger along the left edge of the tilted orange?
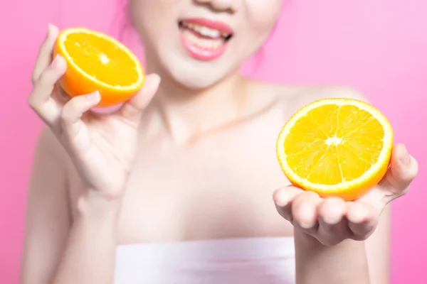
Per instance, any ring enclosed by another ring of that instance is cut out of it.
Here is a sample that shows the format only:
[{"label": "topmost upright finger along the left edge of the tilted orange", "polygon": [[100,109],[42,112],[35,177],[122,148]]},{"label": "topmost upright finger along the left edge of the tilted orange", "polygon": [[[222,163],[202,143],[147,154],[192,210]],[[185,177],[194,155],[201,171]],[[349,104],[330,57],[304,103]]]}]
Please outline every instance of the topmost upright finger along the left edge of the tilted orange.
[{"label": "topmost upright finger along the left edge of the tilted orange", "polygon": [[41,44],[40,50],[38,50],[36,64],[34,65],[33,75],[31,76],[33,84],[36,83],[43,70],[45,70],[51,63],[53,47],[55,46],[58,35],[58,28],[49,24],[48,33],[46,34],[45,40],[43,40],[43,43]]}]

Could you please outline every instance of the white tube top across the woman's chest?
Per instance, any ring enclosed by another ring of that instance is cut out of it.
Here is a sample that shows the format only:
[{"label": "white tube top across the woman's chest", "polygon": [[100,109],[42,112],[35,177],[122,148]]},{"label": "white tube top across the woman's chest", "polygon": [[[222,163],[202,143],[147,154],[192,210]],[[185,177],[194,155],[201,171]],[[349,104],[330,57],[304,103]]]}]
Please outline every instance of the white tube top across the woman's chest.
[{"label": "white tube top across the woman's chest", "polygon": [[292,237],[117,246],[115,284],[294,284]]}]

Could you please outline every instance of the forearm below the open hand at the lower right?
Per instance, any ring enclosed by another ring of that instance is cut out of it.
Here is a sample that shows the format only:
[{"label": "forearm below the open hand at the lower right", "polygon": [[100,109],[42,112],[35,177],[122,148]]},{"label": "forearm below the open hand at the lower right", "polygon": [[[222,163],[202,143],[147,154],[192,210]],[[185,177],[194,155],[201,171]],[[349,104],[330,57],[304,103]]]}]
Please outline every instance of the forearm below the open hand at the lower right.
[{"label": "forearm below the open hand at the lower right", "polygon": [[295,229],[297,284],[369,284],[363,241],[323,246]]}]

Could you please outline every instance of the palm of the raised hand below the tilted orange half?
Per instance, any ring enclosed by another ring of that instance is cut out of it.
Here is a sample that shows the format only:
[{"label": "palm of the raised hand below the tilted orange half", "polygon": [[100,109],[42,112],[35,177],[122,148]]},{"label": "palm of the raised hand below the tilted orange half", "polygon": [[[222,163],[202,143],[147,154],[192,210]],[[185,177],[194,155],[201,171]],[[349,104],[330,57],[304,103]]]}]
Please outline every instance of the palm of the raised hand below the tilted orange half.
[{"label": "palm of the raised hand below the tilted orange half", "polygon": [[114,195],[125,186],[136,155],[137,124],[95,113],[82,121],[69,145],[75,166],[88,187]]}]

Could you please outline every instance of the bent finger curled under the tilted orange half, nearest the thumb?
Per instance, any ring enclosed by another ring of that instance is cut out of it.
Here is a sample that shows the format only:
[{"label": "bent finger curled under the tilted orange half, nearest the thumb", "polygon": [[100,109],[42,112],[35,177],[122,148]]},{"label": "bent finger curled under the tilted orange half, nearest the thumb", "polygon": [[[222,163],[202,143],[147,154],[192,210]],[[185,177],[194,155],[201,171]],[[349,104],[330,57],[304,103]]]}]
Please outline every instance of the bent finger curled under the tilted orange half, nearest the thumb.
[{"label": "bent finger curled under the tilted orange half, nearest the thumb", "polygon": [[100,100],[101,97],[98,92],[70,99],[70,101],[64,105],[60,114],[60,123],[64,133],[71,138],[77,136],[83,127],[85,127],[85,124],[81,120],[83,114],[90,108],[95,107]]}]

